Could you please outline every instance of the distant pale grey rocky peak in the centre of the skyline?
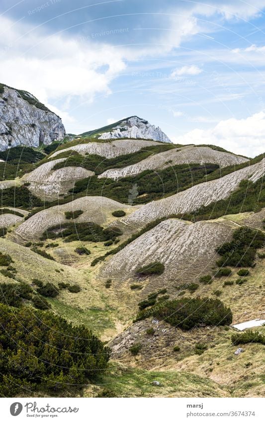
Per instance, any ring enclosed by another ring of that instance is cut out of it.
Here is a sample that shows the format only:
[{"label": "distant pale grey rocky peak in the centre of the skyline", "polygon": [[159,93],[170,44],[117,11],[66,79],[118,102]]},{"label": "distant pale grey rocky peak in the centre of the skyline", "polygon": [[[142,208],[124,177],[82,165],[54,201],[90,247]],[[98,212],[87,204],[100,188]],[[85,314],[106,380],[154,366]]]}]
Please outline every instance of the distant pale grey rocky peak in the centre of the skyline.
[{"label": "distant pale grey rocky peak in the centre of the skyline", "polygon": [[130,117],[111,129],[102,133],[98,139],[140,138],[172,143],[159,127],[151,125],[147,120],[137,116]]}]

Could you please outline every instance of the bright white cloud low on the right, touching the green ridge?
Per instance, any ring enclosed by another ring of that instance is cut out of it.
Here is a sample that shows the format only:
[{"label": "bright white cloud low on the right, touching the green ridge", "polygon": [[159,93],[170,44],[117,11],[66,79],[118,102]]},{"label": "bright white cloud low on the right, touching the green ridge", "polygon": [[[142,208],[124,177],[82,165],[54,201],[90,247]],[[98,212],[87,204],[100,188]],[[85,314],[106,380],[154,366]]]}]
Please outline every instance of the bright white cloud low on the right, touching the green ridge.
[{"label": "bright white cloud low on the right, touching the green ridge", "polygon": [[253,114],[246,119],[231,118],[220,121],[215,127],[174,137],[179,144],[213,144],[247,157],[265,152],[265,112]]}]

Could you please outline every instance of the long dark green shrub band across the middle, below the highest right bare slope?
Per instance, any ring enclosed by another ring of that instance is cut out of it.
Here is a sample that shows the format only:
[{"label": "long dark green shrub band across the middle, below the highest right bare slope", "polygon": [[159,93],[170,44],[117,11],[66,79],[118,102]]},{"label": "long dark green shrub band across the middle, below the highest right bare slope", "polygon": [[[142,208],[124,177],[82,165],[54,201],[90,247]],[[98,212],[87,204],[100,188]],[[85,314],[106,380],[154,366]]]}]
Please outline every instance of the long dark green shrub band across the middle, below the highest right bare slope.
[{"label": "long dark green shrub band across the middle, below the highest right bare slope", "polygon": [[[119,158],[119,157],[118,157]],[[61,164],[61,163],[60,163]],[[62,163],[63,164],[63,163]],[[128,195],[132,186],[137,184],[137,197],[134,204],[145,204],[152,200],[162,199],[193,186],[196,182],[207,180],[207,174],[218,166],[215,164],[182,164],[163,170],[145,170],[140,174],[122,177],[119,180],[91,176],[78,180],[73,193],[83,192],[83,195],[101,195],[118,202],[128,203]],[[144,196],[142,196],[144,195]]]}]

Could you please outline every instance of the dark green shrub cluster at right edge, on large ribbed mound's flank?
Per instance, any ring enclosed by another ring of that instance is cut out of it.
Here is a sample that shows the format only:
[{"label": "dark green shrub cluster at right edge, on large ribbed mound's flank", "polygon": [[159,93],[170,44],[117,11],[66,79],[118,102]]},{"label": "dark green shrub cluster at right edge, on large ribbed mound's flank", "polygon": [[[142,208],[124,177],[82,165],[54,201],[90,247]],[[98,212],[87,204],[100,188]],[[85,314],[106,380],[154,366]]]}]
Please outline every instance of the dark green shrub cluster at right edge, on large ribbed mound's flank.
[{"label": "dark green shrub cluster at right edge, on large ribbed mound's flank", "polygon": [[242,227],[235,230],[233,240],[224,243],[217,252],[221,258],[217,261],[220,267],[231,265],[233,267],[253,266],[257,249],[262,248],[265,234],[259,230]]}]

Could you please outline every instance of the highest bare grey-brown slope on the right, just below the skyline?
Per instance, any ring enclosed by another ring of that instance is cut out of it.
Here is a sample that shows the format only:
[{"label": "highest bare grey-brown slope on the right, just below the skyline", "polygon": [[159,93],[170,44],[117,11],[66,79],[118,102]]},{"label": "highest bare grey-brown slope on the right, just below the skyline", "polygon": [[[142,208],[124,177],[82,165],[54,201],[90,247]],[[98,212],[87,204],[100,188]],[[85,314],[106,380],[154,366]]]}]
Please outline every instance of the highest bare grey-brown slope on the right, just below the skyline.
[{"label": "highest bare grey-brown slope on the right, just below the skyline", "polygon": [[248,159],[234,154],[213,150],[209,147],[195,147],[194,145],[173,149],[163,153],[154,154],[139,163],[124,167],[123,169],[109,169],[99,177],[118,179],[144,170],[164,169],[177,164],[204,163],[218,164],[221,168],[247,162]]}]

